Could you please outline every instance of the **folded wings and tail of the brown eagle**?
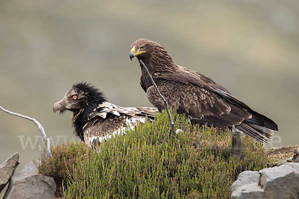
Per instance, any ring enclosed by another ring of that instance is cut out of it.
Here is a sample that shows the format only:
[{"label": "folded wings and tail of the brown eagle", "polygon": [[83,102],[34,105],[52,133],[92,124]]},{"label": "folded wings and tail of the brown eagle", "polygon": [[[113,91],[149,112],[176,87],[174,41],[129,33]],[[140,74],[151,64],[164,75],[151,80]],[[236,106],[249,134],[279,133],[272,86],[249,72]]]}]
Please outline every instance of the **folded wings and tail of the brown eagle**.
[{"label": "folded wings and tail of the brown eagle", "polygon": [[[191,121],[213,124],[223,129],[235,125],[260,142],[267,142],[273,136],[273,131],[278,130],[274,121],[254,111],[209,78],[198,73],[196,76],[188,71],[169,74],[171,73],[154,74],[158,89],[175,112],[185,113],[191,117]],[[178,75],[182,78],[179,79]],[[202,77],[207,82],[202,81]],[[147,90],[147,96],[159,110],[164,108],[153,86]]]}]

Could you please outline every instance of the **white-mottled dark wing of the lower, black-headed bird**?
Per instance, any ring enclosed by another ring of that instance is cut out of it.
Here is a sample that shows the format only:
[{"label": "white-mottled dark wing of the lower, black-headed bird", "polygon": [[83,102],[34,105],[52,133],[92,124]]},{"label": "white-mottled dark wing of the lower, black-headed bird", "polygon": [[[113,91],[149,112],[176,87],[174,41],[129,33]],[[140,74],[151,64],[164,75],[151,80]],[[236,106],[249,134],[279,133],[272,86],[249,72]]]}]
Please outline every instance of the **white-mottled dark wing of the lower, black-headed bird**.
[{"label": "white-mottled dark wing of the lower, black-headed bird", "polygon": [[103,140],[135,128],[139,122],[145,123],[146,118],[153,121],[157,112],[151,107],[122,107],[104,102],[89,114],[83,127],[84,140],[89,147],[94,147]]}]

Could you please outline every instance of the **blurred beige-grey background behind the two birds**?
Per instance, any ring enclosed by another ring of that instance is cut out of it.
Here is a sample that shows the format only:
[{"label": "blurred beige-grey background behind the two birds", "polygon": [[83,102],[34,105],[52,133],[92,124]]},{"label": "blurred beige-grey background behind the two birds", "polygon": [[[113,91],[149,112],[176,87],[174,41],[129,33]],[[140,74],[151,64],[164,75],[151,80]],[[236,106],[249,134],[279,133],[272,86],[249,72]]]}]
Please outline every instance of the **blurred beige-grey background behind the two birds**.
[{"label": "blurred beige-grey background behind the two birds", "polygon": [[[54,144],[79,141],[70,112],[52,110],[73,83],[95,84],[118,105],[151,106],[129,59],[138,38],[277,122],[266,148],[299,144],[297,0],[0,0],[0,105],[36,118]],[[0,111],[0,163],[16,151],[18,170],[38,158],[34,136],[31,121]]]}]

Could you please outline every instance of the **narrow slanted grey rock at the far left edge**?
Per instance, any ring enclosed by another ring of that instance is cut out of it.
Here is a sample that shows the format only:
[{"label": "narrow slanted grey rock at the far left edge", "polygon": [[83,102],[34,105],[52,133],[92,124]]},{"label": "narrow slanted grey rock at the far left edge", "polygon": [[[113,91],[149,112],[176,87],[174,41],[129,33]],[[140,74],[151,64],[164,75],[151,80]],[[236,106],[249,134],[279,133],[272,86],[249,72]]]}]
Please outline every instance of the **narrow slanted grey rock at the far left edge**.
[{"label": "narrow slanted grey rock at the far left edge", "polygon": [[16,152],[0,165],[0,192],[4,189],[10,177],[14,174],[14,171],[19,164],[18,159],[19,154]]}]

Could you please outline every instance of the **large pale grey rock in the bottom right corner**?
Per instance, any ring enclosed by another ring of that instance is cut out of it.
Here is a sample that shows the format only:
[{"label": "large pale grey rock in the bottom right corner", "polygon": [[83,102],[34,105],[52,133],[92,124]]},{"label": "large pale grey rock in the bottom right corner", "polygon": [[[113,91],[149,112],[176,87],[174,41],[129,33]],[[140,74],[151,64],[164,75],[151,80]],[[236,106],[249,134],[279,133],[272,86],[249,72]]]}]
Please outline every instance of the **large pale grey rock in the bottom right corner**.
[{"label": "large pale grey rock in the bottom right corner", "polygon": [[232,199],[298,199],[299,164],[242,172],[231,186]]}]

